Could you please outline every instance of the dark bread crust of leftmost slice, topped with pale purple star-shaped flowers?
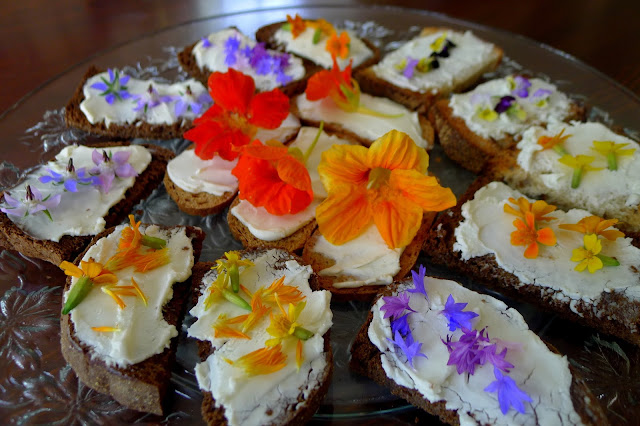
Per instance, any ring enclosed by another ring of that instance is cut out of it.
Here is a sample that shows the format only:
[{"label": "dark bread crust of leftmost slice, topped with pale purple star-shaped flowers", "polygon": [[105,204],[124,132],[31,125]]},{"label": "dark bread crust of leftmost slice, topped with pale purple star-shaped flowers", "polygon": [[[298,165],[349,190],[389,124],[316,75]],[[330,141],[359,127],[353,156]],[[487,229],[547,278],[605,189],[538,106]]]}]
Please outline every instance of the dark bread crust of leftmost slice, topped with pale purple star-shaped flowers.
[{"label": "dark bread crust of leftmost slice, topped with pale purple star-shaped flowers", "polygon": [[[105,142],[87,144],[95,148],[108,148],[130,145],[128,142]],[[151,152],[151,163],[136,177],[134,185],[127,190],[124,198],[111,207],[107,216],[105,228],[123,222],[133,206],[147,198],[158,187],[167,168],[167,162],[174,157],[173,151],[156,145],[143,144]],[[1,201],[0,196],[0,201]],[[38,240],[17,227],[5,213],[0,212],[0,247],[16,250],[20,253],[46,260],[59,265],[63,260],[74,259],[82,251],[92,235],[70,236],[64,235],[60,241]]]}]

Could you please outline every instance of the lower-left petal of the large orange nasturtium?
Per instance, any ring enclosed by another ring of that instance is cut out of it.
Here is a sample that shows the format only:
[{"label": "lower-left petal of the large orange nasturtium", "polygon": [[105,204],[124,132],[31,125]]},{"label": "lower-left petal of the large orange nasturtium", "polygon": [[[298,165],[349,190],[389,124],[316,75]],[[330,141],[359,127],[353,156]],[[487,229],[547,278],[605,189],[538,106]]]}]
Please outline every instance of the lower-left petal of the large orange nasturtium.
[{"label": "lower-left petal of the large orange nasturtium", "polygon": [[316,208],[320,233],[331,244],[340,245],[362,234],[373,219],[367,194],[362,188],[338,188]]}]

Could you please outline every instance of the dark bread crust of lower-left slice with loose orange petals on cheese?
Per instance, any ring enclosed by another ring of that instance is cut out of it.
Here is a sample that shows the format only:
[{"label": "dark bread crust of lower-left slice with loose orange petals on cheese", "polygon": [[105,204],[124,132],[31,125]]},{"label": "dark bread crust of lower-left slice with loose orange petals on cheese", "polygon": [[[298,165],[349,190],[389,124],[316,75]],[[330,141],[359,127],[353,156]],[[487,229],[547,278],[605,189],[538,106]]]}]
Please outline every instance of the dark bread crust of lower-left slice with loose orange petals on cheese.
[{"label": "dark bread crust of lower-left slice with loose orange petals on cheese", "polygon": [[[170,227],[163,227],[170,229]],[[95,244],[100,238],[114,231],[110,228],[98,234],[92,241]],[[202,251],[205,234],[200,228],[187,226],[186,233],[193,244],[194,263],[198,261]],[[88,250],[88,247],[87,249]],[[78,265],[86,253],[83,252],[75,260]],[[162,308],[162,315],[167,323],[181,329],[185,307],[191,294],[192,279],[173,284],[173,297]],[[71,277],[67,278],[65,291],[71,285]],[[64,302],[64,301],[63,301]],[[171,339],[171,346],[159,354],[155,354],[137,364],[122,368],[108,366],[103,360],[92,356],[92,349],[82,343],[75,334],[70,315],[61,316],[60,345],[64,359],[71,365],[78,378],[88,387],[107,395],[120,404],[138,411],[162,415],[162,403],[169,387],[171,370],[175,362],[178,337]]]}]

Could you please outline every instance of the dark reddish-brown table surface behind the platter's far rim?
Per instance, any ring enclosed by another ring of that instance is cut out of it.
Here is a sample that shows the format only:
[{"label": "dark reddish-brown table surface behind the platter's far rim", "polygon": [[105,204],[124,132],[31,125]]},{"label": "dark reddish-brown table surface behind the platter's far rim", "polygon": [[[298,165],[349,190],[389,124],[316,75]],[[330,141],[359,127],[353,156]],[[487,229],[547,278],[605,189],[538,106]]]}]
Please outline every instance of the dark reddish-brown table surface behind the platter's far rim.
[{"label": "dark reddish-brown table surface behind the platter's far rim", "polygon": [[193,19],[309,4],[387,4],[430,10],[546,43],[640,95],[640,2],[614,0],[4,0],[0,117],[74,64]]}]

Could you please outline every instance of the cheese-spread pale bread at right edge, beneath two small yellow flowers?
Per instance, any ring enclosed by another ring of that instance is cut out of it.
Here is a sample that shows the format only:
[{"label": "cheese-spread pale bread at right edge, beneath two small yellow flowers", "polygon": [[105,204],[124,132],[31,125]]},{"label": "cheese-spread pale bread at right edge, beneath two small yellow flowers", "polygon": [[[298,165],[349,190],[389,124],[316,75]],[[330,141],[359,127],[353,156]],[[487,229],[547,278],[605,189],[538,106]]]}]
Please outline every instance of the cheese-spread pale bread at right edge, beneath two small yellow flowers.
[{"label": "cheese-spread pale bread at right edge, beneath two small yellow flowers", "polygon": [[[560,155],[553,149],[543,150],[538,144],[541,136],[552,137],[564,130],[567,138],[563,145],[574,157],[595,157],[591,166],[602,170],[583,174],[578,188],[571,188],[573,169],[561,164]],[[617,156],[618,170],[607,168],[604,155],[593,150],[593,141],[612,141],[629,144],[623,149],[635,149],[633,155]],[[635,141],[618,135],[600,123],[578,123],[571,125],[554,123],[547,130],[532,127],[525,131],[518,143],[518,166],[520,170],[509,175],[507,180],[532,197],[545,198],[552,203],[580,207],[599,215],[614,217],[638,226],[638,204],[640,204],[640,146]]]}]

